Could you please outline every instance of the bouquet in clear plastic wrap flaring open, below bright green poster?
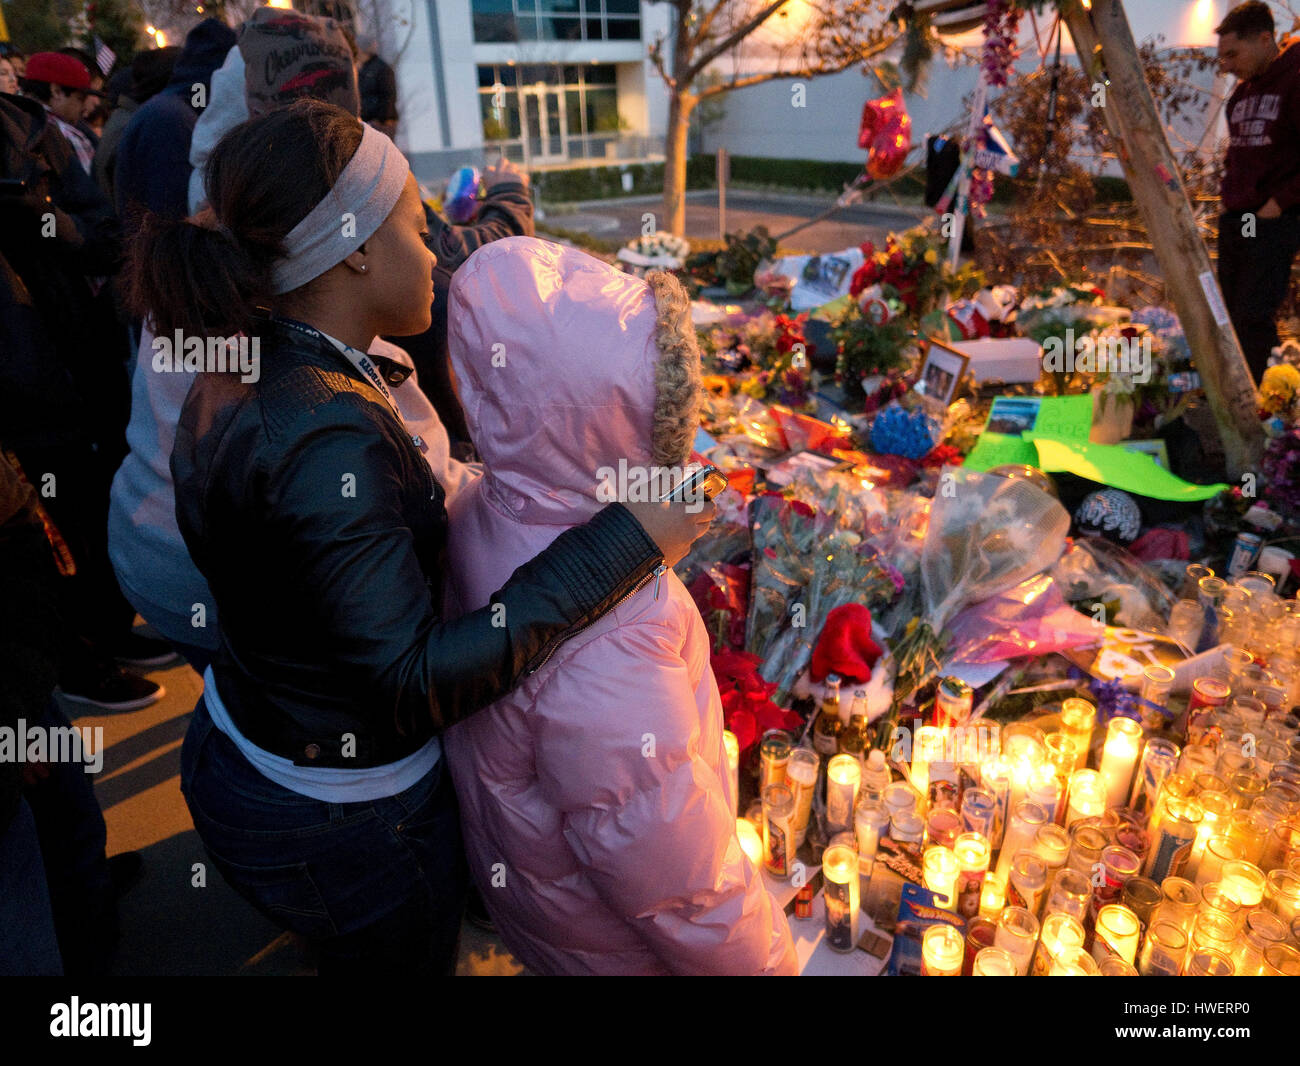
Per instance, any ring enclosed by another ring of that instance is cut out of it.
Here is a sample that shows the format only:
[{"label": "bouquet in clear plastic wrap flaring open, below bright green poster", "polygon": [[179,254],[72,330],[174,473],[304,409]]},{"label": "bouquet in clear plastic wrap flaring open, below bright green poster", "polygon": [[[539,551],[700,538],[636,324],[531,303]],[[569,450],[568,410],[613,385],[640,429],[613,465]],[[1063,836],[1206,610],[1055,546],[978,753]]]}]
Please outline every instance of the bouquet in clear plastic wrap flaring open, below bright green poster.
[{"label": "bouquet in clear plastic wrap flaring open, below bright green poster", "polygon": [[961,467],[941,472],[920,554],[922,612],[890,650],[892,715],[942,668],[957,612],[1048,569],[1069,532],[1070,515],[1036,485]]}]

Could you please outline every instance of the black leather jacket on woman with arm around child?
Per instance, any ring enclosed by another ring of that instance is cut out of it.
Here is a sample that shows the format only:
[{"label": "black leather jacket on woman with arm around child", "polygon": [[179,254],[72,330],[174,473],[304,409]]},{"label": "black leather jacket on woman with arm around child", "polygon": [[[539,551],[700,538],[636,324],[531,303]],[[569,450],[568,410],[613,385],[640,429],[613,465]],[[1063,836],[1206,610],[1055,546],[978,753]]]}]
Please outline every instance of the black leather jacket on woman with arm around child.
[{"label": "black leather jacket on woman with arm around child", "polygon": [[307,766],[408,755],[662,564],[611,504],[491,606],[443,621],[445,494],[416,445],[329,341],[257,332],[259,381],[199,374],[172,452],[181,533],[217,602],[217,689],[257,746]]}]

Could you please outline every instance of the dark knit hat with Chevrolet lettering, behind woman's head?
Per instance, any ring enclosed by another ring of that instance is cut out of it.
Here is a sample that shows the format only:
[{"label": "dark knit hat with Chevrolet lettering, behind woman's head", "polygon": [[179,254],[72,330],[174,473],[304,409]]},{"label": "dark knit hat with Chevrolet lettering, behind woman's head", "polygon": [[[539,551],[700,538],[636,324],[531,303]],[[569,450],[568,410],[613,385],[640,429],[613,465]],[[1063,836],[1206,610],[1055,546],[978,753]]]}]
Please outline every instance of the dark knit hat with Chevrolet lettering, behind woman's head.
[{"label": "dark knit hat with Chevrolet lettering, behind woman's head", "polygon": [[352,49],[333,18],[259,8],[239,31],[244,98],[252,117],[299,96],[328,100],[358,114]]}]

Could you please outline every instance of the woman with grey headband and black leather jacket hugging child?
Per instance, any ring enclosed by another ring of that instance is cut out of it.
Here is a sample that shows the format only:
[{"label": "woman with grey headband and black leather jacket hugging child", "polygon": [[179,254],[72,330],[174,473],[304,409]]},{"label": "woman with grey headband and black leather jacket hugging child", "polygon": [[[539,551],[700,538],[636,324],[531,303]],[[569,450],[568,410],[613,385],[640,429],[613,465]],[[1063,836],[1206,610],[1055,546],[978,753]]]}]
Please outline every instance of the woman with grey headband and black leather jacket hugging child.
[{"label": "woman with grey headband and black leather jacket hugging child", "polygon": [[406,160],[304,100],[228,134],[207,190],[209,225],[147,220],[130,261],[157,335],[257,344],[256,373],[196,378],[172,454],[221,633],[186,802],[226,880],[320,972],[450,972],[467,875],[439,734],[682,558],[711,510],[610,504],[443,621],[445,493],[395,370],[365,355],[429,325]]}]

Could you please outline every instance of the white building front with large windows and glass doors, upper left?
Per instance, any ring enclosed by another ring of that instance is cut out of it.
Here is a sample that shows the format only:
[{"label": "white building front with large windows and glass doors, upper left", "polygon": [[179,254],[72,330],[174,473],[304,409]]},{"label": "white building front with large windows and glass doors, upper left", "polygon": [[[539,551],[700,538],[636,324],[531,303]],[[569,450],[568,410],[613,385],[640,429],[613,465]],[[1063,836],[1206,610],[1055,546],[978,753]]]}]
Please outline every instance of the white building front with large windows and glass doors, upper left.
[{"label": "white building front with large windows and glass doors, upper left", "polygon": [[[662,159],[649,44],[670,9],[640,0],[407,0],[381,31],[398,143],[436,182],[498,152],[529,169]],[[404,25],[403,25],[404,23]]]}]

